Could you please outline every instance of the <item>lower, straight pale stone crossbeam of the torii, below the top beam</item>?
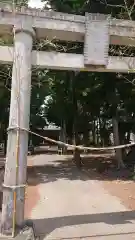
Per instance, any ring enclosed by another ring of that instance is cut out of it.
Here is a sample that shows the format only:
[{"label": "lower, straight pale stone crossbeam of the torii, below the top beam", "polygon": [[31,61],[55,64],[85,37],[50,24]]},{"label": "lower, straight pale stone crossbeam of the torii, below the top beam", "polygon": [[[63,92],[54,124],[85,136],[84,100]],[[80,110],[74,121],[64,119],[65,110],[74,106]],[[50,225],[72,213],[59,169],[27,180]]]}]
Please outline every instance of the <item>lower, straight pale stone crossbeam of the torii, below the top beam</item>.
[{"label": "lower, straight pale stone crossbeam of the torii, below the top beam", "polygon": [[[0,63],[12,64],[13,47],[0,46]],[[134,57],[109,57],[106,68],[85,67],[82,54],[58,52],[32,52],[32,65],[39,68],[92,71],[92,72],[135,72]]]}]

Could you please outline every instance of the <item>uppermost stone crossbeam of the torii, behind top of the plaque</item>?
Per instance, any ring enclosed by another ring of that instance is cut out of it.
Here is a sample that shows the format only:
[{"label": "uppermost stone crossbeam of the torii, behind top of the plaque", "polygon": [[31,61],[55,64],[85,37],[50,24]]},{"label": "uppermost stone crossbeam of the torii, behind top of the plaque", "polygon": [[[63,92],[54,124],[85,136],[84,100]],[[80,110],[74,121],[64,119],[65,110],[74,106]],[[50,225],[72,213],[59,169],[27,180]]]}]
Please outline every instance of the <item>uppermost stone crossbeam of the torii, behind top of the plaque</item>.
[{"label": "uppermost stone crossbeam of the torii, behind top of the plaque", "polygon": [[[0,11],[0,36],[11,34],[15,21],[21,22],[24,19],[31,22],[36,30],[37,39],[48,37],[66,41],[84,41],[84,16],[32,9],[17,12],[15,17],[11,11]],[[135,21],[111,19],[109,35],[110,44],[135,45]]]}]

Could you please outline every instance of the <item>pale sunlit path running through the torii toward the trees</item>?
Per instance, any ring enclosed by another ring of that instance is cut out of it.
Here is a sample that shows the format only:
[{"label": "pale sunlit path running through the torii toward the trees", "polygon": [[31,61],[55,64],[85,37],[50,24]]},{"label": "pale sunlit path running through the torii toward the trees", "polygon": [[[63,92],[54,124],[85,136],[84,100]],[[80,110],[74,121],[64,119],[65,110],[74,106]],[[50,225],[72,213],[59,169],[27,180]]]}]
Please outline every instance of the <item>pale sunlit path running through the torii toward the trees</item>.
[{"label": "pale sunlit path running through the torii toward the trees", "polygon": [[61,156],[39,155],[32,165],[34,192],[28,194],[26,212],[41,239],[135,239],[135,212],[102,181],[90,179]]}]

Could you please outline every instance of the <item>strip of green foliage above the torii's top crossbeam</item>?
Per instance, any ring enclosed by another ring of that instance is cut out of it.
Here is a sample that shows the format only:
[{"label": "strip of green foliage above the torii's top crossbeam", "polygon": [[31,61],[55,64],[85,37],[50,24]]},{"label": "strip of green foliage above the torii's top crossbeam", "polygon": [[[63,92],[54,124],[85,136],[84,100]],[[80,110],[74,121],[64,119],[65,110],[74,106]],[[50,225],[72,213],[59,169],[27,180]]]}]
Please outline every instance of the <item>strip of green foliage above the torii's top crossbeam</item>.
[{"label": "strip of green foliage above the torii's top crossbeam", "polygon": [[56,11],[81,15],[91,12],[111,14],[118,18],[134,18],[135,14],[133,0],[48,0],[48,4]]}]

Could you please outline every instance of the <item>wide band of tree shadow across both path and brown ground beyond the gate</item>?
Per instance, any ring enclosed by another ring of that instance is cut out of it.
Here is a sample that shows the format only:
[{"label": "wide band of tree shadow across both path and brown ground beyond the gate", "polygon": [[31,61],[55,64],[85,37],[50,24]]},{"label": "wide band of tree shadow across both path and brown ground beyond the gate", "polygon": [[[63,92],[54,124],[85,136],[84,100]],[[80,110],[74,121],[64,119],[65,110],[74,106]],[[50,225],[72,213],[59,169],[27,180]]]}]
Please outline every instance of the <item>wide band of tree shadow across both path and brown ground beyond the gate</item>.
[{"label": "wide band of tree shadow across both path and brown ground beyond the gate", "polygon": [[132,174],[128,169],[118,170],[114,157],[109,154],[83,155],[81,170],[78,170],[73,163],[72,156],[66,156],[64,160],[54,160],[46,165],[28,167],[28,184],[34,186],[39,183],[54,182],[58,179],[80,179],[82,181],[120,179],[126,181],[132,180]]}]

